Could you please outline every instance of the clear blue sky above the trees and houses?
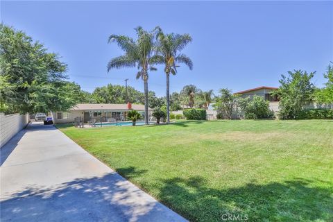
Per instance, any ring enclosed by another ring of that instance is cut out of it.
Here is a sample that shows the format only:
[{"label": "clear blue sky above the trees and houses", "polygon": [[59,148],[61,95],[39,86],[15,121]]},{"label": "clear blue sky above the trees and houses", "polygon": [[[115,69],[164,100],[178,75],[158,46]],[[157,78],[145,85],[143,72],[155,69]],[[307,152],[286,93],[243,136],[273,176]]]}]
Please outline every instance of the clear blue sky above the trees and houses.
[{"label": "clear blue sky above the trees and houses", "polygon": [[[194,70],[180,67],[171,92],[187,84],[215,93],[221,87],[278,87],[280,75],[293,69],[317,71],[313,80],[321,87],[333,61],[332,1],[1,1],[1,21],[58,53],[70,80],[89,92],[123,85],[125,78],[143,91],[136,69],[106,70],[108,60],[122,54],[108,36],[134,37],[136,26],[158,25],[165,33],[193,37],[183,53]],[[165,76],[158,68],[149,89],[164,96]]]}]

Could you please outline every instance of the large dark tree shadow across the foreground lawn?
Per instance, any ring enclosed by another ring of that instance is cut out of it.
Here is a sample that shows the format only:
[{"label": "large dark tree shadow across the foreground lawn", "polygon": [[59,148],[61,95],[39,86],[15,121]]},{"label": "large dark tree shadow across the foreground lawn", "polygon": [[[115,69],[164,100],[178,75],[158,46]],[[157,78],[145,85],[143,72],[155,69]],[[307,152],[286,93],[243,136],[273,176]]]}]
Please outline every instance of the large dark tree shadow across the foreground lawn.
[{"label": "large dark tree shadow across the foreground lawn", "polygon": [[246,215],[248,221],[333,220],[332,189],[314,187],[314,181],[249,183],[230,189],[212,189],[200,177],[163,182],[158,198],[190,221],[221,221],[225,214]]}]

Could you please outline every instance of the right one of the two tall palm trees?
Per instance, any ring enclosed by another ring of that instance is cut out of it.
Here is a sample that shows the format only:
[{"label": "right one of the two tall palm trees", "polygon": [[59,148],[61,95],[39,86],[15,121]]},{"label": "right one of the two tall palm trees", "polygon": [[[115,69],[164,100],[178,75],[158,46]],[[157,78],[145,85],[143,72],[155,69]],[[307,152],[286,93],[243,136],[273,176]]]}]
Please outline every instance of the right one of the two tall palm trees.
[{"label": "right one of the two tall palm trees", "polygon": [[170,123],[170,74],[176,75],[176,67],[178,67],[176,64],[180,63],[187,65],[190,70],[193,69],[191,58],[185,54],[178,54],[192,41],[192,38],[189,34],[164,34],[161,28],[157,29],[157,39],[159,40],[157,53],[160,56],[160,63],[164,64],[164,72],[167,76],[167,123]]}]

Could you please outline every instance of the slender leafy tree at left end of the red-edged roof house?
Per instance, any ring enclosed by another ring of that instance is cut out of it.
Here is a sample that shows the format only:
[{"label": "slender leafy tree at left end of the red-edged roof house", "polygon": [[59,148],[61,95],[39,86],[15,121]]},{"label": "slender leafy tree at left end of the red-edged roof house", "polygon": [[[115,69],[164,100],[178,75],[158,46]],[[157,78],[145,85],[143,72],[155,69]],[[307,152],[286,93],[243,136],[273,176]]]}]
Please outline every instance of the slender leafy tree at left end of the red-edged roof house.
[{"label": "slender leafy tree at left end of the red-edged roof house", "polygon": [[228,88],[220,89],[219,93],[220,95],[216,97],[216,103],[213,105],[214,110],[217,111],[218,119],[231,119],[239,97],[232,94]]}]

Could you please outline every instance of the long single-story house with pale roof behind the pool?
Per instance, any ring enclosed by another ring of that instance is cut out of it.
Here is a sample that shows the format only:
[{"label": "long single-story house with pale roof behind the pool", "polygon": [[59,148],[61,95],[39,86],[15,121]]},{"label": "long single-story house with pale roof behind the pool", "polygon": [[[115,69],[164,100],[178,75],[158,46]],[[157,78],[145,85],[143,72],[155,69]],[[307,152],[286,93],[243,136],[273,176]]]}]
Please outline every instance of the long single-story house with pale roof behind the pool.
[{"label": "long single-story house with pale roof behind the pool", "polygon": [[[82,117],[85,122],[95,119],[103,119],[102,121],[117,120],[122,121],[127,117],[127,112],[137,110],[144,118],[144,105],[137,104],[89,104],[81,103],[71,108],[68,112],[52,112],[54,123],[74,123],[76,117]],[[150,116],[149,109],[148,115]]]}]

